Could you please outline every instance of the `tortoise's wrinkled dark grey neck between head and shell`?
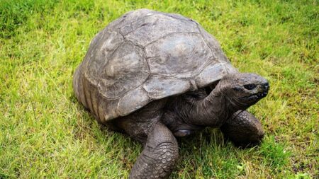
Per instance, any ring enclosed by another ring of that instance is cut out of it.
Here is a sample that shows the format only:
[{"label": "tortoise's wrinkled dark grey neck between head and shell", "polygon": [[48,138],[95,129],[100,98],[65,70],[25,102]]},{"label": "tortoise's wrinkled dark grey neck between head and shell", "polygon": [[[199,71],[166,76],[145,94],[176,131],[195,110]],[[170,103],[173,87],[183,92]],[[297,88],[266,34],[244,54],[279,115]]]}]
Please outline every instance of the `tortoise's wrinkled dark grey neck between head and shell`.
[{"label": "tortoise's wrinkled dark grey neck between head and shell", "polygon": [[226,92],[223,83],[218,83],[206,98],[190,100],[190,107],[184,109],[184,121],[196,126],[220,127],[237,110],[245,110],[245,106],[235,104]]}]

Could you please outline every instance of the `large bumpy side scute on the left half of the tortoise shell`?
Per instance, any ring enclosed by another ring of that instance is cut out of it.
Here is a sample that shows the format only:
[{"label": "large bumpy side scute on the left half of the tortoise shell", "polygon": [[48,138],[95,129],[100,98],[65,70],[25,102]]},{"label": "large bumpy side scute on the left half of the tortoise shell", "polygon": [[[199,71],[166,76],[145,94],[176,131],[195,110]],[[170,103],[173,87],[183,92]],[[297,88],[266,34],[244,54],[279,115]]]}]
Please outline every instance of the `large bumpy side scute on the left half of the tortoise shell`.
[{"label": "large bumpy side scute on the left half of the tortoise shell", "polygon": [[99,74],[99,92],[110,99],[122,97],[149,76],[144,52],[131,42],[118,47],[105,67],[100,69],[103,71]]}]

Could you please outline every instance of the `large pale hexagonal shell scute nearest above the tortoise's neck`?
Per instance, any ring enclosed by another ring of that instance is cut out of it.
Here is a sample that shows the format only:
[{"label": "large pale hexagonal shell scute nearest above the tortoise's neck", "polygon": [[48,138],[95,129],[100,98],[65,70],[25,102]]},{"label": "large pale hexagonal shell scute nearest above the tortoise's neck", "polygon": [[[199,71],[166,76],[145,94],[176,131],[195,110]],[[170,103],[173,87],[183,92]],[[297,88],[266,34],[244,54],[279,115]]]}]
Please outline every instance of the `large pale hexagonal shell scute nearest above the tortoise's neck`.
[{"label": "large pale hexagonal shell scute nearest above the tortoise's neck", "polygon": [[213,55],[198,33],[174,33],[145,47],[152,74],[190,78]]}]

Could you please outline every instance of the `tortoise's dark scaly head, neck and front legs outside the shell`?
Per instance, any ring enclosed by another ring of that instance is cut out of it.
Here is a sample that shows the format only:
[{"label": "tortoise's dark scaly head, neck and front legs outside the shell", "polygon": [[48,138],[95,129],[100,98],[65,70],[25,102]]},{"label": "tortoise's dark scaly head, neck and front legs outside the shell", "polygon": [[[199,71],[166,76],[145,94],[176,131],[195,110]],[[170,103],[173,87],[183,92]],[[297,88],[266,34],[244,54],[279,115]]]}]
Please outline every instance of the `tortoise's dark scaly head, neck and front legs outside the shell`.
[{"label": "tortoise's dark scaly head, neck and front legs outside the shell", "polygon": [[[264,137],[260,122],[245,111],[267,96],[269,83],[256,74],[225,76],[210,92],[207,88],[146,105],[109,125],[144,144],[130,178],[167,178],[178,158],[175,137],[203,127],[221,127],[235,144],[257,144]],[[210,92],[210,93],[207,93]]]}]

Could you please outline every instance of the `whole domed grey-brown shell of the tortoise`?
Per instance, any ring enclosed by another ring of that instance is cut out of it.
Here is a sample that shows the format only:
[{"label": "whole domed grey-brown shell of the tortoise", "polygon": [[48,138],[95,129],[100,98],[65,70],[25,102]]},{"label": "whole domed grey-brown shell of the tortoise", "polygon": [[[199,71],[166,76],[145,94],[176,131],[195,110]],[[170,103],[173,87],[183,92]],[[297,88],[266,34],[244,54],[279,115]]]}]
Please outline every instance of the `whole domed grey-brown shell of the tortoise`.
[{"label": "whole domed grey-brown shell of the tortoise", "polygon": [[125,13],[91,41],[74,92],[99,122],[195,91],[237,71],[201,25],[174,13]]}]

